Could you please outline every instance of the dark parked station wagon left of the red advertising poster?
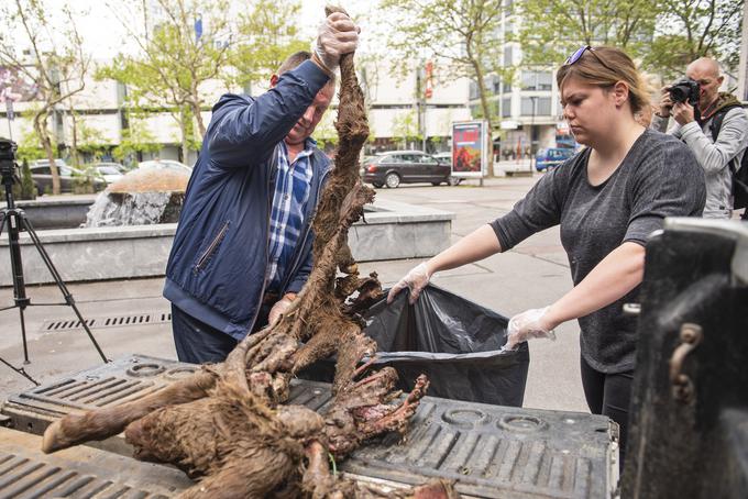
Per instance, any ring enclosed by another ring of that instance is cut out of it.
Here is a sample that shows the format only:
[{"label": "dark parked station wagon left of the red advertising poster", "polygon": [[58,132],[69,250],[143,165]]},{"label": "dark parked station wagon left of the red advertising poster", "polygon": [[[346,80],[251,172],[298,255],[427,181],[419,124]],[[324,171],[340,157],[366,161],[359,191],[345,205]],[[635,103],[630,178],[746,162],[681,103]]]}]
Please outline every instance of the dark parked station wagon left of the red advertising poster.
[{"label": "dark parked station wagon left of the red advertising poster", "polygon": [[431,182],[453,185],[452,169],[433,156],[420,151],[389,151],[376,156],[366,156],[361,168],[363,181],[374,187],[391,189],[400,184]]}]

